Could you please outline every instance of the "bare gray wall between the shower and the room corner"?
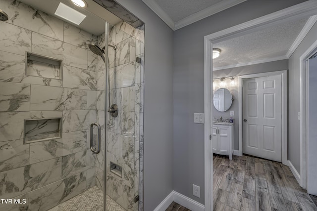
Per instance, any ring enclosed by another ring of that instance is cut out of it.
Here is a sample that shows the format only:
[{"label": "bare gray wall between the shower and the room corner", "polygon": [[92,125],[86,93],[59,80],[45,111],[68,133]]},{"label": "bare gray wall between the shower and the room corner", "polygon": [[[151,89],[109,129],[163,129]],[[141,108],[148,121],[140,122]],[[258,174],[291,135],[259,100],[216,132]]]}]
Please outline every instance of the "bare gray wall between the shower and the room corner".
[{"label": "bare gray wall between the shower and the room corner", "polygon": [[144,210],[173,190],[173,31],[141,0],[117,0],[145,22]]}]

